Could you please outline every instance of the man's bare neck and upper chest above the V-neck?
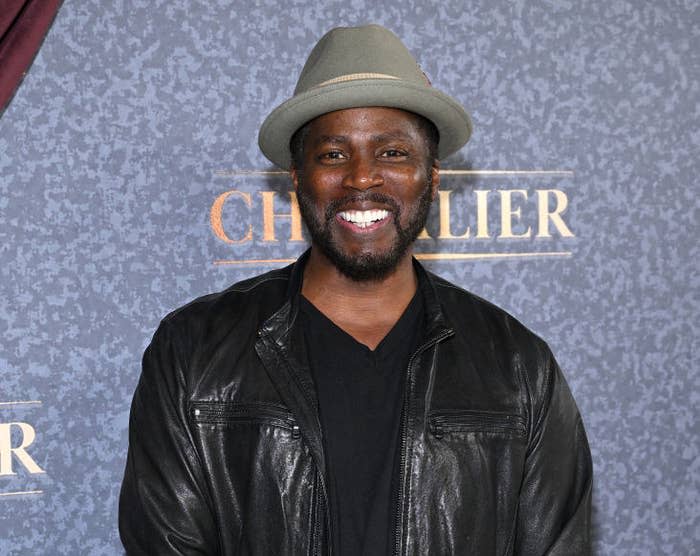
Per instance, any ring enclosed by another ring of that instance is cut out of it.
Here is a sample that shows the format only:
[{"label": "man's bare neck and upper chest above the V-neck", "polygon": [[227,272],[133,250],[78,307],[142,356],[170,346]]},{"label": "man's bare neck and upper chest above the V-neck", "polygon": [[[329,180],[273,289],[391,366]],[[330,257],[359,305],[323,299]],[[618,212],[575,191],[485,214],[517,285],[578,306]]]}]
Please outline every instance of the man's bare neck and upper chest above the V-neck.
[{"label": "man's bare neck and upper chest above the V-neck", "polygon": [[312,247],[301,292],[337,326],[374,349],[403,314],[417,284],[410,252],[385,278],[357,282]]}]

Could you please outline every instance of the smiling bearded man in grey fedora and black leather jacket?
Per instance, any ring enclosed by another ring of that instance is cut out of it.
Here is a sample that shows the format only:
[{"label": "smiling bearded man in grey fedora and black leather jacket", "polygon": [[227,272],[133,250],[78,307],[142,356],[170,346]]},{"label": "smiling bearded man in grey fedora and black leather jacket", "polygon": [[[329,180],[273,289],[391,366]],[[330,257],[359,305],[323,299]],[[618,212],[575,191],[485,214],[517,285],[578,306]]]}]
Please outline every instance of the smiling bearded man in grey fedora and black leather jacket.
[{"label": "smiling bearded man in grey fedora and black leather jacket", "polygon": [[334,29],[260,146],[311,249],[144,355],[129,554],[587,554],[591,460],[546,344],[411,256],[471,125],[388,30]]}]

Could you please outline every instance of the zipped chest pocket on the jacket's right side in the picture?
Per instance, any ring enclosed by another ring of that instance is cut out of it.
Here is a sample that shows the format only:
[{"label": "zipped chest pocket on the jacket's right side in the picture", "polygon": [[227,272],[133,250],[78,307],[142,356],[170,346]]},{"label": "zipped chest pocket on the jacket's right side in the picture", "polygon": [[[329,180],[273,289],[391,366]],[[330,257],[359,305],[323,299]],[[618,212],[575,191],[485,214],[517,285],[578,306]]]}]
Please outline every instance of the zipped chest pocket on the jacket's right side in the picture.
[{"label": "zipped chest pocket on the jacket's right side in the picture", "polygon": [[430,412],[428,422],[436,438],[450,433],[494,433],[511,437],[527,433],[525,419],[511,413],[442,409]]}]

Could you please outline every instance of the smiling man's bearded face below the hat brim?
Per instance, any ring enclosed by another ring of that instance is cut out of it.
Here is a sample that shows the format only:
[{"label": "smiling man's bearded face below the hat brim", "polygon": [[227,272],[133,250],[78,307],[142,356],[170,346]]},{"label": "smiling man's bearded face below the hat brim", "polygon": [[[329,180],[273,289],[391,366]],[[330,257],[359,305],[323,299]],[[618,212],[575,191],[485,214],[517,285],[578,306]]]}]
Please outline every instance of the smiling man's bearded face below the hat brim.
[{"label": "smiling man's bearded face below the hat brim", "polygon": [[375,107],[313,120],[292,179],[314,247],[365,281],[387,276],[407,256],[439,174],[418,118]]}]

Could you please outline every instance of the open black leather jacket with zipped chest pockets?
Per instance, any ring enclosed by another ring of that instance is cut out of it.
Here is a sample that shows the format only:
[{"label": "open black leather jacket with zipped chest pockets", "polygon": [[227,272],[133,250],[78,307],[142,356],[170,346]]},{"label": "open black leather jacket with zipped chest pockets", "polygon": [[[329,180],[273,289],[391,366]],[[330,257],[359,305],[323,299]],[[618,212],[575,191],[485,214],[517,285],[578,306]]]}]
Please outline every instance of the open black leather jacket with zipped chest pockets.
[{"label": "open black leather jacket with zipped chest pockets", "polygon": [[[131,408],[128,554],[328,554],[322,431],[300,327],[304,257],[166,317]],[[591,458],[547,345],[416,263],[397,555],[590,553]]]}]

